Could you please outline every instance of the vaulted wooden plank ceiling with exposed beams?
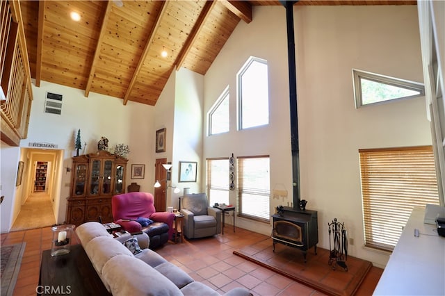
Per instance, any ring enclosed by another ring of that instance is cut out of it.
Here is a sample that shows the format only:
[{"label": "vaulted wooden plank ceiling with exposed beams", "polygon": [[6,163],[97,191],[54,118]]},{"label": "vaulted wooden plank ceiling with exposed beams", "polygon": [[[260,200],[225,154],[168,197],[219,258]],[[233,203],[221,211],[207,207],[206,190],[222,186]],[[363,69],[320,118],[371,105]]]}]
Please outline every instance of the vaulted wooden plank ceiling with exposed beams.
[{"label": "vaulted wooden plank ceiling with exposed beams", "polygon": [[[252,6],[280,1],[20,1],[31,76],[154,106],[171,72],[206,74]],[[416,5],[299,1],[298,5]],[[79,13],[75,22],[70,13]],[[165,50],[167,56],[161,56]]]}]

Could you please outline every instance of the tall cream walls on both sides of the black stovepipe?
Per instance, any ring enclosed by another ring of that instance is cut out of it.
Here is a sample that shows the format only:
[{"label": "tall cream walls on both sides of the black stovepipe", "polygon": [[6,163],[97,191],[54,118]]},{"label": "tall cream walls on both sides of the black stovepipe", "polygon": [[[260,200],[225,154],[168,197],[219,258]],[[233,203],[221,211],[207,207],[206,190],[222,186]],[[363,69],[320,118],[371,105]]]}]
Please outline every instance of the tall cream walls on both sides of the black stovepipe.
[{"label": "tall cream walls on both sides of the black stovepipe", "polygon": [[[329,249],[327,222],[346,222],[349,254],[380,267],[387,254],[364,249],[358,149],[431,145],[424,98],[355,109],[352,69],[423,82],[415,6],[296,6],[301,198],[318,211],[319,246]],[[249,56],[268,60],[270,125],[236,131],[236,72]],[[270,188],[283,183],[292,200],[286,17],[281,6],[254,7],[204,77],[204,114],[229,85],[229,133],[204,137],[207,157],[269,154]],[[235,202],[235,192],[231,192]],[[238,219],[270,233],[270,225]]]}]

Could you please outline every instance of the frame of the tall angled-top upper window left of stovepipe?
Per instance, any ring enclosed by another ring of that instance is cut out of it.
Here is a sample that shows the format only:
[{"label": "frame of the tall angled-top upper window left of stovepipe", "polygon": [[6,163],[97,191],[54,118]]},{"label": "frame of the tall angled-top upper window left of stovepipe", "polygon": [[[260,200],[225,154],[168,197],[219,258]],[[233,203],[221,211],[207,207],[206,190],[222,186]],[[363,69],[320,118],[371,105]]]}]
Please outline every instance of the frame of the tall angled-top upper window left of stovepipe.
[{"label": "frame of the tall angled-top upper window left of stovepipe", "polygon": [[[243,74],[245,74],[245,72],[248,71],[250,65],[252,65],[252,63],[254,62],[258,62],[258,63],[262,63],[264,65],[266,65],[267,67],[267,83],[269,83],[269,74],[268,74],[268,69],[269,69],[269,65],[268,65],[268,61],[265,60],[264,58],[257,58],[255,56],[250,56],[248,58],[248,60],[246,60],[246,62],[244,63],[243,67],[241,67],[241,69],[238,71],[238,73],[236,74],[236,94],[237,94],[237,128],[238,131],[242,131],[243,129],[254,129],[257,128],[259,126],[266,126],[268,124],[270,124],[270,96],[269,93],[267,94],[267,110],[268,110],[268,118],[267,118],[267,123],[264,124],[259,124],[256,126],[248,126],[248,127],[243,127],[243,83],[242,83],[242,76]],[[269,92],[269,86],[268,86],[268,92]]]}]

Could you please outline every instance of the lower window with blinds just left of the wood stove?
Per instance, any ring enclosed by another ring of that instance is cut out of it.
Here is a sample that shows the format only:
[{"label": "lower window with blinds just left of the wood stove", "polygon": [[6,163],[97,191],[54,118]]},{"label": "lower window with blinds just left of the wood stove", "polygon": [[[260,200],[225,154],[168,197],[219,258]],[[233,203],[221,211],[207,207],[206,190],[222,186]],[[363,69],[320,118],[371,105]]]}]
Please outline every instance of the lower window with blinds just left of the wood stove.
[{"label": "lower window with blinds just left of the wood stove", "polygon": [[238,215],[270,221],[269,156],[236,158]]}]

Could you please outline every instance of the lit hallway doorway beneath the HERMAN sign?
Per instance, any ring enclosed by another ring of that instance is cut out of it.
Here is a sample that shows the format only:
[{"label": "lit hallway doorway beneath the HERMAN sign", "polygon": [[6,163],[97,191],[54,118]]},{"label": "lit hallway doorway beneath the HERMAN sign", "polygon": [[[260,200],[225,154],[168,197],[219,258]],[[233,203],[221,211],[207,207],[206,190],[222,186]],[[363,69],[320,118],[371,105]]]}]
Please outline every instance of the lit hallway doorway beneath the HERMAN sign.
[{"label": "lit hallway doorway beneath the HERMAN sign", "polygon": [[21,149],[22,186],[17,190],[20,208],[11,231],[49,227],[57,223],[60,204],[60,163],[63,150]]}]

